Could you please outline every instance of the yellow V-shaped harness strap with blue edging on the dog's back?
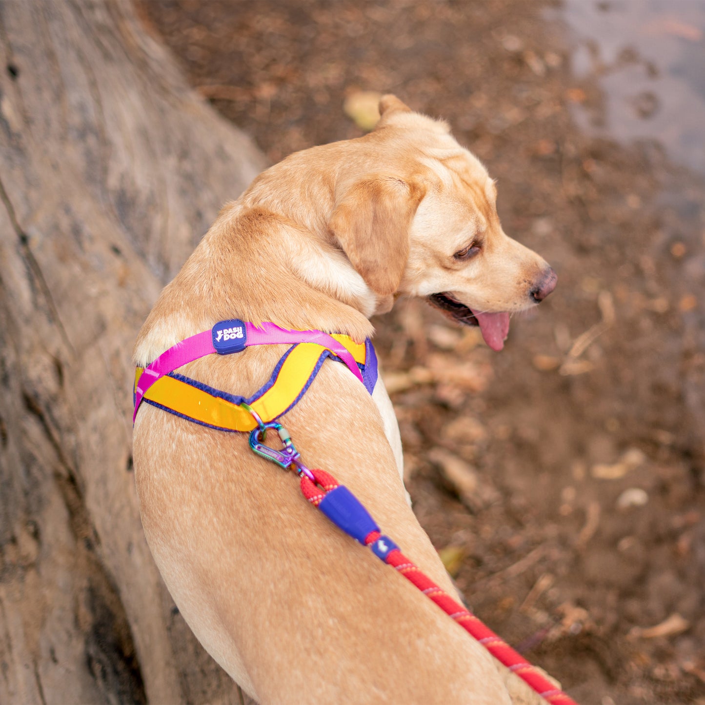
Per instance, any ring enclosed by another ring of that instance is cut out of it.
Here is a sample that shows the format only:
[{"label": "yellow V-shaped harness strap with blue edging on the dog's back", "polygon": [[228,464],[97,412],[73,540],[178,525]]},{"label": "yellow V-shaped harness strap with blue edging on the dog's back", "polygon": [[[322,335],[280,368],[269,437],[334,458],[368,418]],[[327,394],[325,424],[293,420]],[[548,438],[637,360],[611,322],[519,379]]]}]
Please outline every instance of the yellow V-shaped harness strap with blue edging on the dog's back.
[{"label": "yellow V-shaped harness strap with blue edging on the dog's back", "polygon": [[[341,343],[355,362],[365,364],[367,350],[364,343],[355,343],[350,336],[337,333],[331,338]],[[264,423],[281,416],[299,400],[322,364],[321,357],[326,350],[331,353],[324,345],[299,343],[279,360],[262,393],[247,402]],[[135,390],[142,370],[142,367],[135,370]],[[190,421],[222,431],[252,431],[257,426],[252,414],[239,405],[244,398],[236,398],[181,375],[161,377],[149,387],[144,399]]]}]

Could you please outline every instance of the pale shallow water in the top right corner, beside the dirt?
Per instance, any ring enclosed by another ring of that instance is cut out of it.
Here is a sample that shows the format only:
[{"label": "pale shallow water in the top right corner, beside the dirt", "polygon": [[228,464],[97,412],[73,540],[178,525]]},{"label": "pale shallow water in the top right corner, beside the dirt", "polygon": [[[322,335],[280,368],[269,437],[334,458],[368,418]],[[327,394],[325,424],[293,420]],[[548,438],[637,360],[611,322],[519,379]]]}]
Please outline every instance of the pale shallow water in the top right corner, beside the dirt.
[{"label": "pale shallow water in the top right corner, beside the dirt", "polygon": [[705,2],[565,0],[577,39],[572,71],[599,80],[600,104],[574,102],[590,135],[654,140],[670,159],[705,173]]}]

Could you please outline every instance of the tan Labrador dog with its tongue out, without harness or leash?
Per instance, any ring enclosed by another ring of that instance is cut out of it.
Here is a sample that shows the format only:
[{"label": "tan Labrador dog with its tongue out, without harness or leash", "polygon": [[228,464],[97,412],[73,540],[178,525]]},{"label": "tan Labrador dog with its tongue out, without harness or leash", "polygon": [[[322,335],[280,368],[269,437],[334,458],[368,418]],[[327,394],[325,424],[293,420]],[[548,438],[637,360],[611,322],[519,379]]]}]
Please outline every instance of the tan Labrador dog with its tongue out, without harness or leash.
[{"label": "tan Labrador dog with its tongue out, without harness or leash", "polygon": [[[140,331],[144,366],[221,319],[372,334],[398,294],[479,322],[499,349],[508,313],[551,292],[546,262],[505,235],[486,169],[445,123],[381,101],[374,132],[292,154],[228,204]],[[247,396],[286,346],[208,355],[179,372]],[[451,592],[405,498],[384,386],[326,362],[281,422],[422,570]],[[142,522],[195,635],[262,703],[508,703],[496,664],[431,601],[314,510],[246,434],[142,405]]]}]

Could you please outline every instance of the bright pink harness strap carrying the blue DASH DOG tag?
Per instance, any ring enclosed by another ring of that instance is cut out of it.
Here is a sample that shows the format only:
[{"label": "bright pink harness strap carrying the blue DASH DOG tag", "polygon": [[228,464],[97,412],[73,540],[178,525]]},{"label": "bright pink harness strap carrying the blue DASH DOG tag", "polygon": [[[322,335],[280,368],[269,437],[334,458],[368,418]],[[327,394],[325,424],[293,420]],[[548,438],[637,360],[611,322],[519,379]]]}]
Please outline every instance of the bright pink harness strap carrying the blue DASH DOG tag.
[{"label": "bright pink harness strap carrying the blue DASH DOG tag", "polygon": [[[216,348],[214,341],[216,340],[216,327],[223,326],[223,324],[226,323],[233,324],[231,328],[244,326],[245,335],[238,336],[238,338],[242,338],[243,340],[241,345],[235,345],[234,348],[226,350],[225,353],[237,352],[249,345],[316,343],[317,345],[323,345],[324,348],[328,348],[332,353],[340,357],[341,360],[348,365],[350,372],[364,384],[364,379],[362,379],[362,374],[357,367],[357,362],[355,362],[353,355],[348,352],[344,345],[329,336],[328,333],[324,333],[323,331],[288,331],[285,328],[280,328],[274,323],[269,322],[255,326],[255,324],[246,323],[237,319],[221,321],[221,323],[214,326],[212,331],[203,331],[203,333],[197,333],[195,336],[186,338],[184,341],[179,341],[176,345],[166,350],[165,353],[161,353],[154,362],[145,367],[140,376],[137,388],[135,389],[135,413],[133,414],[133,423],[137,418],[137,410],[140,408],[142,398],[145,396],[147,389],[149,389],[154,382],[161,379],[165,374],[173,372],[175,369],[178,369],[178,367],[188,364],[188,362],[198,360],[200,357],[204,357],[204,355],[211,355],[212,353],[223,354],[222,349],[218,350]],[[220,331],[218,331],[218,333],[220,336]],[[370,393],[372,393],[372,391],[370,391]]]}]

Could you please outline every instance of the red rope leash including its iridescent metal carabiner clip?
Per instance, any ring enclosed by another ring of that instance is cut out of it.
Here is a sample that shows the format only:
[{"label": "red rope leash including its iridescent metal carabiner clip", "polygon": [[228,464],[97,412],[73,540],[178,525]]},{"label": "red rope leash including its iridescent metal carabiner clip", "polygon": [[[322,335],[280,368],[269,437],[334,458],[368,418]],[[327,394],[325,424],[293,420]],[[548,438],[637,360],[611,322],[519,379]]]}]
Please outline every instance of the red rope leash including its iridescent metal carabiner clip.
[{"label": "red rope leash including its iridescent metal carabiner clip", "polygon": [[[250,410],[251,412],[252,410]],[[255,418],[257,419],[256,415]],[[360,501],[331,474],[323,470],[312,470],[299,460],[299,453],[293,446],[286,429],[281,424],[262,424],[250,434],[250,446],[255,453],[268,460],[273,460],[285,470],[294,466],[301,478],[303,496],[318,507],[338,527],[372,552],[384,563],[396,568],[407,580],[415,585],[424,595],[433,600],[446,614],[455,620],[470,636],[482,644],[500,663],[516,673],[529,687],[536,691],[551,705],[577,705],[562,690],[556,688],[544,675],[527,663],[520,654],[484,625],[475,615],[456,602],[441,587],[412,563],[400,551],[394,541],[384,536],[379,527]],[[279,434],[284,448],[276,451],[264,446],[266,429],[274,429]]]}]

